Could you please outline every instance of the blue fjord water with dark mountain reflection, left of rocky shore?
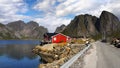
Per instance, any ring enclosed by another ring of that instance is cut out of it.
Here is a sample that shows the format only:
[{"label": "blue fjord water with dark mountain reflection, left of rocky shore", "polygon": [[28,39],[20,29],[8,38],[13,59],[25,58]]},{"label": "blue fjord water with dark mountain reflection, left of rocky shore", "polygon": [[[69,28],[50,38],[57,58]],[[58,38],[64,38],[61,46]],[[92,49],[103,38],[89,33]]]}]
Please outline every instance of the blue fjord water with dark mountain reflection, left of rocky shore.
[{"label": "blue fjord water with dark mountain reflection, left of rocky shore", "polygon": [[40,57],[32,53],[39,41],[0,40],[0,68],[38,68]]}]

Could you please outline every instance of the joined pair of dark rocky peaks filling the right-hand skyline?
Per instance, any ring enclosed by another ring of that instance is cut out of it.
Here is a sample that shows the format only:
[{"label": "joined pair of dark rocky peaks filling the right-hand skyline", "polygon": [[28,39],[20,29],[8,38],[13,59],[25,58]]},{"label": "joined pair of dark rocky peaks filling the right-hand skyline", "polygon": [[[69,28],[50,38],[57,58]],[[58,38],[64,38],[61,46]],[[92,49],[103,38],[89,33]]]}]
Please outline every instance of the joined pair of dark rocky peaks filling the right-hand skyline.
[{"label": "joined pair of dark rocky peaks filling the right-hand skyline", "polygon": [[71,37],[118,36],[120,35],[119,27],[119,19],[114,14],[103,11],[100,18],[89,14],[76,16],[62,33]]}]

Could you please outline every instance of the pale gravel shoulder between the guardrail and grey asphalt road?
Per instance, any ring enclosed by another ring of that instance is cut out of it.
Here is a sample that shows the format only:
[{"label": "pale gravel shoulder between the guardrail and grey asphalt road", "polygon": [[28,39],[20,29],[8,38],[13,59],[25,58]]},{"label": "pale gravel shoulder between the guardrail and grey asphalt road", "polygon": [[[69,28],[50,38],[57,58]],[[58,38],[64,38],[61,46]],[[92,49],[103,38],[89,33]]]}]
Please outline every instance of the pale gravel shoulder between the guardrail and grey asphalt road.
[{"label": "pale gravel shoulder between the guardrail and grey asphalt road", "polygon": [[92,43],[90,49],[84,55],[78,58],[70,68],[96,68],[96,43]]}]

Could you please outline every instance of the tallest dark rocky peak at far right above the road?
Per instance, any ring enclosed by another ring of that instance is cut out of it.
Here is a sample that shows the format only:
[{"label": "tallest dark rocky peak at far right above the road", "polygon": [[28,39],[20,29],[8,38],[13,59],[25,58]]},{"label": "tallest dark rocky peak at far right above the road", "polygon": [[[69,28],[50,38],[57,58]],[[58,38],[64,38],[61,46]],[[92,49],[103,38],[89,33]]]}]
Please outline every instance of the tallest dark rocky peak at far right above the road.
[{"label": "tallest dark rocky peak at far right above the road", "polygon": [[105,36],[112,36],[113,34],[120,34],[120,21],[110,12],[103,11],[100,16],[101,32]]}]

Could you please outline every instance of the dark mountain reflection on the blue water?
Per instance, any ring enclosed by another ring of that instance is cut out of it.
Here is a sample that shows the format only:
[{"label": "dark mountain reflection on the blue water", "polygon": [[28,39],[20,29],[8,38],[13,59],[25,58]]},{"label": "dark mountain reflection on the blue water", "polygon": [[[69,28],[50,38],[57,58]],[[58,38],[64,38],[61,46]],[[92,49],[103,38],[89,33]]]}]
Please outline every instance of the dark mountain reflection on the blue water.
[{"label": "dark mountain reflection on the blue water", "polygon": [[4,47],[0,47],[0,55],[6,55],[9,58],[20,60],[24,57],[29,59],[36,58],[35,54],[33,54],[32,45],[6,45]]}]

